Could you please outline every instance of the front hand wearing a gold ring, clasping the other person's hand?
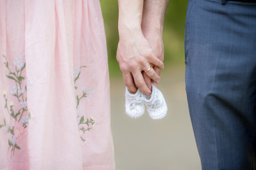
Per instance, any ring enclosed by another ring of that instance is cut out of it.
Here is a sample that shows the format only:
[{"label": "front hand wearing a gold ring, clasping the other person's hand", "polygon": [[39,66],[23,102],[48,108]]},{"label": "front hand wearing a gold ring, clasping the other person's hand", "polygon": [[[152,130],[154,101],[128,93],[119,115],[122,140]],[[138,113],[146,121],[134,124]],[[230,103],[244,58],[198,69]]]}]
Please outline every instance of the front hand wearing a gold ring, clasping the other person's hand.
[{"label": "front hand wearing a gold ring, clasping the other person's hand", "polygon": [[157,84],[160,80],[159,70],[164,68],[164,63],[154,55],[142,32],[119,36],[117,61],[129,91],[136,93],[139,88],[145,95],[151,94],[151,81]]}]

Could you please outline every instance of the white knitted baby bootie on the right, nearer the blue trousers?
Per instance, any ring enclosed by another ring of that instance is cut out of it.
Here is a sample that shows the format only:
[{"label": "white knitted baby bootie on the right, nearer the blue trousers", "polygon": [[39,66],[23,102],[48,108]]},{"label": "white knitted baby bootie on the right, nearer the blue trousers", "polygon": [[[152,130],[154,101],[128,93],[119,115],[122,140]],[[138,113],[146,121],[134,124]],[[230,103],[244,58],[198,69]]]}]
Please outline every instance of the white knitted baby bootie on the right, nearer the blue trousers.
[{"label": "white knitted baby bootie on the right, nearer the blue trousers", "polygon": [[144,96],[144,103],[146,105],[146,111],[152,119],[159,120],[166,116],[168,110],[166,101],[161,91],[159,91],[154,84],[152,84],[152,94],[150,98]]}]

